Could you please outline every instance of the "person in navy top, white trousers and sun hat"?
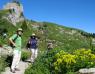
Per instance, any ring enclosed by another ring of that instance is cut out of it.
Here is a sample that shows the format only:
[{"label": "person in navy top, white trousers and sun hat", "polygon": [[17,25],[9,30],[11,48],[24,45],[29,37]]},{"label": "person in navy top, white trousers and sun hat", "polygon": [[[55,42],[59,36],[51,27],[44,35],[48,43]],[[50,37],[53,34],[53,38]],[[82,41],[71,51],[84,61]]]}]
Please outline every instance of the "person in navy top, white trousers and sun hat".
[{"label": "person in navy top, white trousers and sun hat", "polygon": [[37,54],[38,54],[38,46],[37,46],[37,36],[35,34],[32,34],[32,36],[29,39],[29,44],[30,44],[30,50],[32,52],[31,55],[31,62],[33,63],[34,60],[37,58]]}]

